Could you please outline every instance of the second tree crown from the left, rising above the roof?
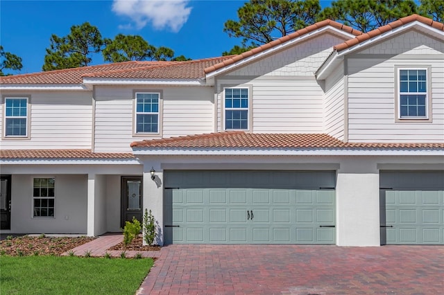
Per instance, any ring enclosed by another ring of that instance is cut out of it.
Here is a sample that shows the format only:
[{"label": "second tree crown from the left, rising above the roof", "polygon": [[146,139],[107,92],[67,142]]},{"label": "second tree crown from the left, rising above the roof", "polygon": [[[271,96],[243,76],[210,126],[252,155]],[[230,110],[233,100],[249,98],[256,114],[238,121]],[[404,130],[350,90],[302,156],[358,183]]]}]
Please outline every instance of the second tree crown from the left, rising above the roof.
[{"label": "second tree crown from the left, rising above the roof", "polygon": [[92,53],[99,53],[105,44],[99,29],[88,22],[71,26],[71,32],[65,37],[52,35],[50,42],[43,71],[87,66],[92,61]]}]

